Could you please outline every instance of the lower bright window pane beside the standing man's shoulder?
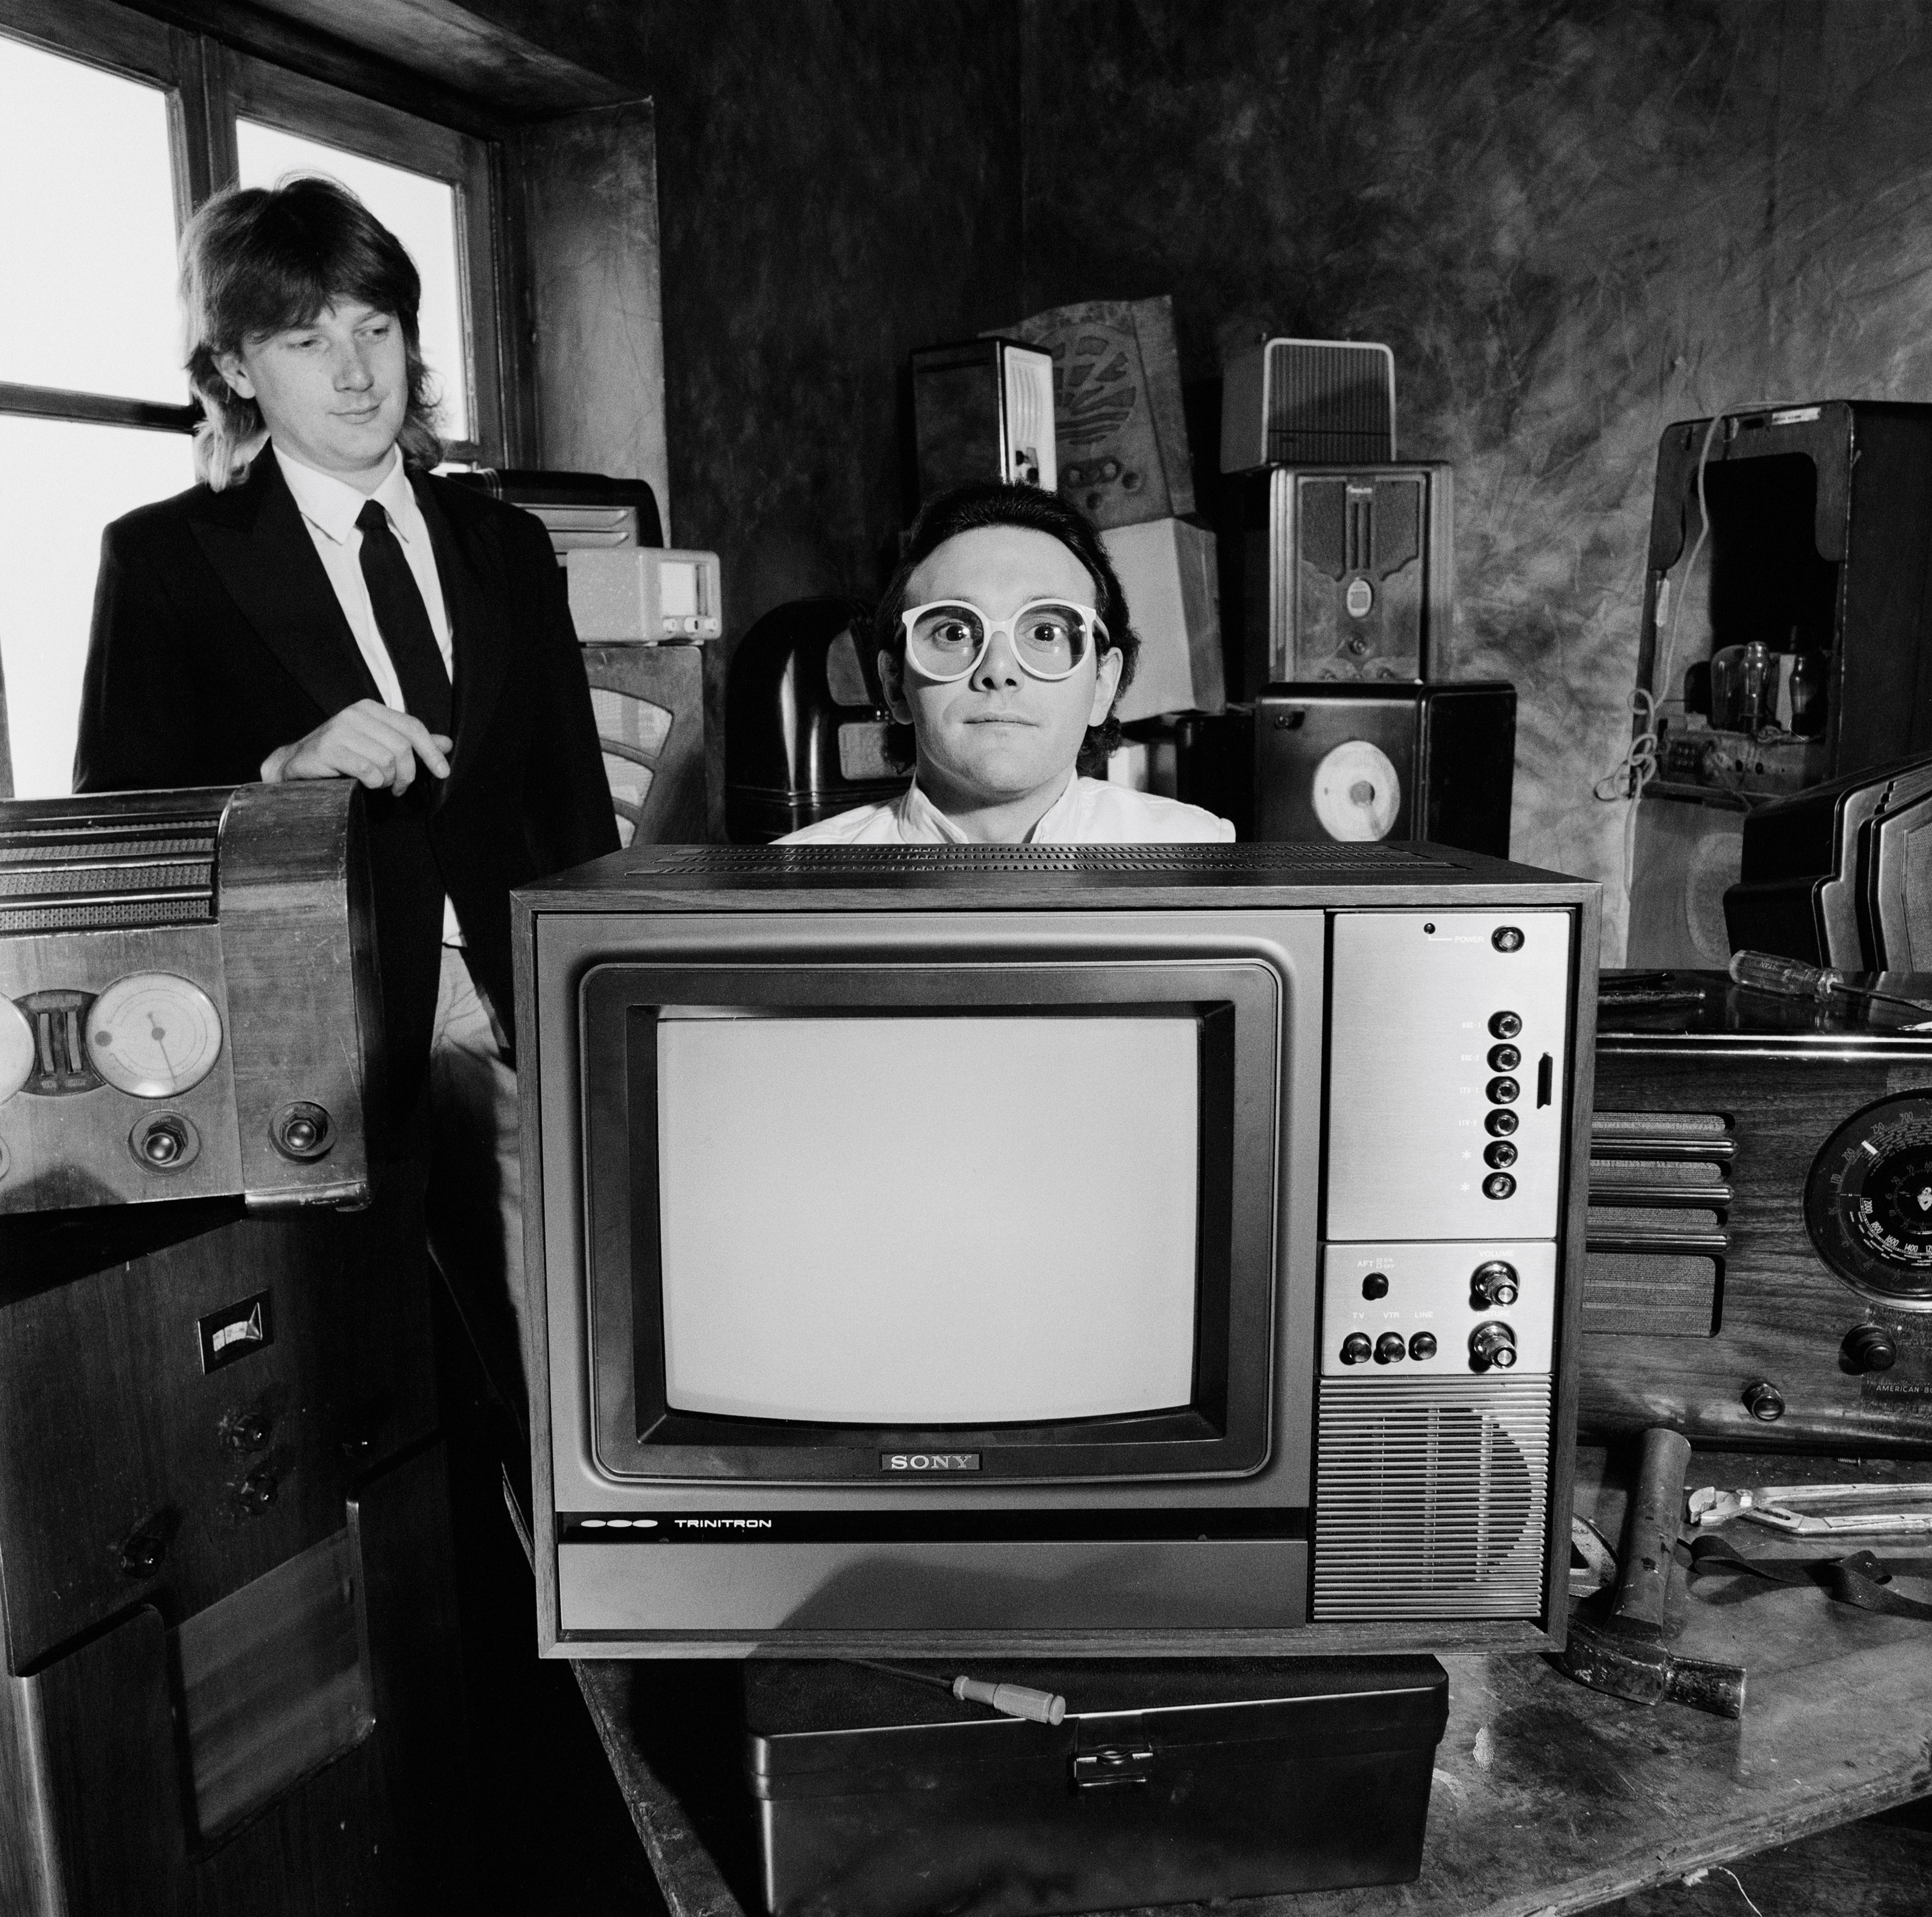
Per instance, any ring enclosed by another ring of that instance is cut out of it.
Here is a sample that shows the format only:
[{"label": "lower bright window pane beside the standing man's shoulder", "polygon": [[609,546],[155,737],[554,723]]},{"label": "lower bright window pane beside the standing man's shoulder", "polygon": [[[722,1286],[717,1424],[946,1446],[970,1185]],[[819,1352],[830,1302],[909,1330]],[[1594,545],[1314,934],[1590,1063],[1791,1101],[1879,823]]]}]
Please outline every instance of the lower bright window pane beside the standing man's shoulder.
[{"label": "lower bright window pane beside the standing man's shoulder", "polygon": [[71,788],[100,528],[193,479],[185,433],[0,414],[0,672],[15,796]]}]

